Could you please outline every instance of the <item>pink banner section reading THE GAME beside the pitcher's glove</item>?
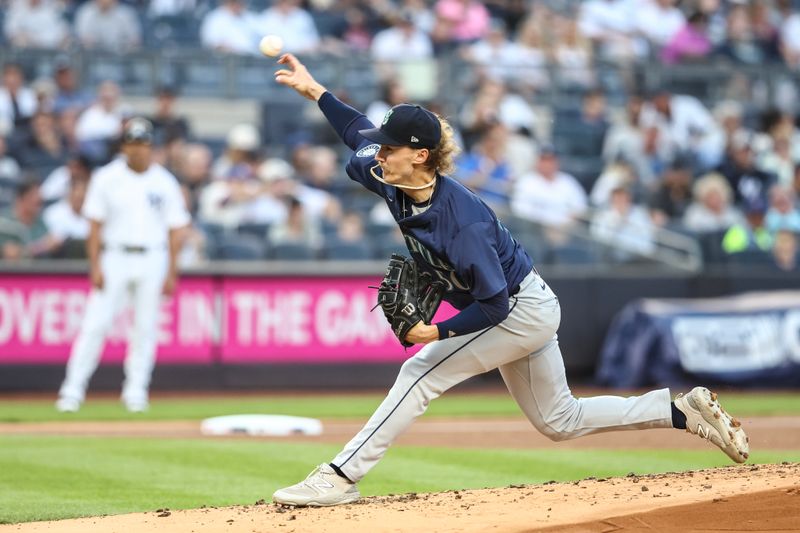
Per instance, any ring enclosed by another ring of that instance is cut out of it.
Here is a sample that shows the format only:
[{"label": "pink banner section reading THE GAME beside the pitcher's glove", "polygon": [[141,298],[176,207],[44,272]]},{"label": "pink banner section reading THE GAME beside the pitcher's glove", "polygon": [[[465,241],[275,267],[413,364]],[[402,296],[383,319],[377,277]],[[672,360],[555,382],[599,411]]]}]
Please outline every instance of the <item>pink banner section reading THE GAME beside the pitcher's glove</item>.
[{"label": "pink banner section reading THE GAME beside the pitcher's glove", "polygon": [[[228,278],[222,282],[222,361],[387,362],[406,352],[369,285],[380,278]],[[452,316],[442,304],[436,320]]]}]

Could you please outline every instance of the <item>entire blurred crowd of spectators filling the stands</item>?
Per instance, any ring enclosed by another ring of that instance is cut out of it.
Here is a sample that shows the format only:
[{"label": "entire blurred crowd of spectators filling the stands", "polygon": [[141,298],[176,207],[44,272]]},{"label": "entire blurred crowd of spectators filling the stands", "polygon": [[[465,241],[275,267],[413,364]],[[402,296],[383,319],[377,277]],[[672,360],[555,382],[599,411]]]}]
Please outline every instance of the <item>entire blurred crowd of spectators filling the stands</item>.
[{"label": "entire blurred crowd of spectators filling the stands", "polygon": [[[669,87],[642,90],[637,79],[652,61],[774,63],[796,96],[800,9],[790,0],[5,3],[5,43],[17,48],[124,54],[164,46],[169,35],[179,46],[250,55],[262,35],[277,34],[287,51],[308,57],[353,55],[382,80],[381,97],[364,109],[374,123],[410,99],[394,62],[456,56],[474,72],[469,97],[455,107],[424,103],[458,132],[454,177],[497,210],[535,260],[637,262],[668,230],[697,239],[707,262],[800,268],[794,99],[708,102]],[[620,67],[618,75],[600,75],[598,61]],[[50,78],[29,80],[32,70],[2,67],[0,256],[80,257],[87,183],[115,157],[132,113],[124,87],[83,87],[68,56]],[[537,92],[553,86],[565,97],[543,113]],[[383,259],[403,249],[385,206],[345,176],[346,153],[318,113],[304,110],[301,127],[277,143],[256,120],[211,142],[175,112],[179,92],[160,87],[149,118],[158,160],[194,215],[185,266]],[[600,246],[576,246],[581,233]]]}]

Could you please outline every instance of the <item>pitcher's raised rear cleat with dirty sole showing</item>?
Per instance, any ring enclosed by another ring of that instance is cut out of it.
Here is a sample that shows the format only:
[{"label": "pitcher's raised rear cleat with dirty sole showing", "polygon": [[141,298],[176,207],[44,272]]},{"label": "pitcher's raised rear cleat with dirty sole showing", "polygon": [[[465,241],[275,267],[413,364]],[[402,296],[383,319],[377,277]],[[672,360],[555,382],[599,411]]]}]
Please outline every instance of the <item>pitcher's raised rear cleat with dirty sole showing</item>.
[{"label": "pitcher's raised rear cleat with dirty sole showing", "polygon": [[717,394],[695,387],[675,398],[675,407],[686,415],[686,431],[716,444],[728,457],[743,463],[750,455],[750,439],[742,424],[725,412]]}]

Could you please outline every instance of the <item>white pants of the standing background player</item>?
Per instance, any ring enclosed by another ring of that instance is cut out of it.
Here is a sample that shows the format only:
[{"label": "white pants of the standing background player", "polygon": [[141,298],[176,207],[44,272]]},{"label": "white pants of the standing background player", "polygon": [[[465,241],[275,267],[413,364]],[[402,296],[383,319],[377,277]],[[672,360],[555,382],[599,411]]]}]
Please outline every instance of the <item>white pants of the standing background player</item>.
[{"label": "white pants of the standing background player", "polygon": [[125,356],[124,402],[147,401],[156,358],[158,314],[169,258],[166,249],[141,253],[109,249],[100,258],[104,285],[93,288],[80,333],[72,345],[60,397],[83,401],[97,369],[106,335],[127,303],[133,304],[133,327]]}]

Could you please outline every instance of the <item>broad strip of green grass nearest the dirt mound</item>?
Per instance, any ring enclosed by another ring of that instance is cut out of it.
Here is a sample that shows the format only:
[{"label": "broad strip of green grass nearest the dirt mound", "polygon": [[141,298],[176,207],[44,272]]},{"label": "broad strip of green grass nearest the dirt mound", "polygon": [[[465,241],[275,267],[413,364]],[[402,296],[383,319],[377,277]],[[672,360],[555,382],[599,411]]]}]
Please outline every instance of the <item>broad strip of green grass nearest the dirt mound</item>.
[{"label": "broad strip of green grass nearest the dirt mound", "polygon": [[[269,501],[338,446],[244,440],[0,436],[0,523]],[[800,451],[753,462],[800,461]],[[396,447],[365,495],[496,487],[730,464],[718,451]]]}]

